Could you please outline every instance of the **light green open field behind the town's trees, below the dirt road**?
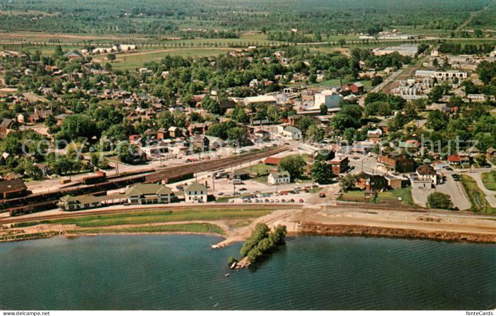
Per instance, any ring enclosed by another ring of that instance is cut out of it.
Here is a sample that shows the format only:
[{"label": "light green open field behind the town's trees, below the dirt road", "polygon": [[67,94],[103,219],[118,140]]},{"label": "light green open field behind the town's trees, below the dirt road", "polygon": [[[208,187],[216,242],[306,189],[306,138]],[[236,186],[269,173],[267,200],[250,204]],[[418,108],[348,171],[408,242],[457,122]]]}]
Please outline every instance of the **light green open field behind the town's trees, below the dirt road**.
[{"label": "light green open field behind the town's trees, below the dirt road", "polygon": [[197,57],[212,56],[231,52],[233,49],[214,49],[214,48],[182,48],[169,49],[157,53],[141,53],[139,55],[118,55],[117,59],[111,63],[113,69],[134,69],[143,67],[146,62],[160,61],[166,55]]}]

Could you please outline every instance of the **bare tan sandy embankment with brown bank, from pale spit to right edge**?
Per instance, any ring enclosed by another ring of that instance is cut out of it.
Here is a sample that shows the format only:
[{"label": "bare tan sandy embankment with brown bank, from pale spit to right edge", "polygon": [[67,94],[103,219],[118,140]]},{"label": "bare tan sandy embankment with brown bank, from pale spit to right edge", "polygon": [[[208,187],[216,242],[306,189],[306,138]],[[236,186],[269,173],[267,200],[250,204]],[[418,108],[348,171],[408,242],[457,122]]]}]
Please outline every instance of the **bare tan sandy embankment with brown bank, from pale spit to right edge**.
[{"label": "bare tan sandy embankment with brown bank, from pale spit to right edge", "polygon": [[426,211],[367,211],[353,208],[280,210],[260,217],[232,237],[224,247],[248,238],[254,225],[286,225],[288,234],[422,238],[454,242],[496,243],[496,216]]}]

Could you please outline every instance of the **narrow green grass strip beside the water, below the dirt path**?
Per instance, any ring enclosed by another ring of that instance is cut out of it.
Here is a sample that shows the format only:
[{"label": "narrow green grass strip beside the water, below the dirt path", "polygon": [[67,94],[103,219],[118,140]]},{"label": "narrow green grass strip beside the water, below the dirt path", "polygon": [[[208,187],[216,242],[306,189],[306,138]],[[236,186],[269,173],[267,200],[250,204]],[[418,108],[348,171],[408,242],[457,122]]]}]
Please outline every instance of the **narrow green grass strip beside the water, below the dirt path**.
[{"label": "narrow green grass strip beside the water, below the dirt path", "polygon": [[209,223],[191,223],[191,224],[170,224],[157,226],[140,226],[125,228],[92,228],[80,230],[68,230],[70,234],[86,233],[161,233],[161,232],[185,232],[185,233],[216,233],[223,235],[224,231],[217,225]]}]

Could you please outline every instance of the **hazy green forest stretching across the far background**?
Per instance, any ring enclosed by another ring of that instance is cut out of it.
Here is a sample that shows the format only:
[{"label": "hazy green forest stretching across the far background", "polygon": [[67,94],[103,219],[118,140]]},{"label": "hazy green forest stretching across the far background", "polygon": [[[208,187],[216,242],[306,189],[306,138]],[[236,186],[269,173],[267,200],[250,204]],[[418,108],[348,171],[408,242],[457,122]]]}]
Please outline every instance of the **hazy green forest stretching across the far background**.
[{"label": "hazy green forest stretching across the far background", "polygon": [[[168,34],[182,28],[305,34],[376,34],[397,25],[450,32],[491,0],[0,0],[4,30]],[[36,10],[39,12],[27,12]],[[17,13],[16,13],[17,12]],[[41,13],[40,13],[41,12]],[[46,14],[55,13],[55,14]],[[476,28],[495,25],[494,9],[475,16]],[[469,25],[470,26],[470,25]],[[274,39],[294,37],[274,34]],[[303,40],[303,38],[301,38]],[[285,42],[293,42],[284,40]]]}]

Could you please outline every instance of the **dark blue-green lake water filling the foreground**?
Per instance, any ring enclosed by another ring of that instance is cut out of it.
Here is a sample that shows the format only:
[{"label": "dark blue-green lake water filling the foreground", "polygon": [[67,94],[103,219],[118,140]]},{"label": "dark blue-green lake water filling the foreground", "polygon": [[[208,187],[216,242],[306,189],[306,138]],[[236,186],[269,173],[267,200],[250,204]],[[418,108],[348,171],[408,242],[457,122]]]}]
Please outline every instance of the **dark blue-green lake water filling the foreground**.
[{"label": "dark blue-green lake water filling the foreground", "polygon": [[[287,238],[233,272],[241,244],[198,235],[52,238],[0,244],[0,309],[496,308],[496,246],[427,240]],[[226,273],[231,275],[226,277]]]}]

